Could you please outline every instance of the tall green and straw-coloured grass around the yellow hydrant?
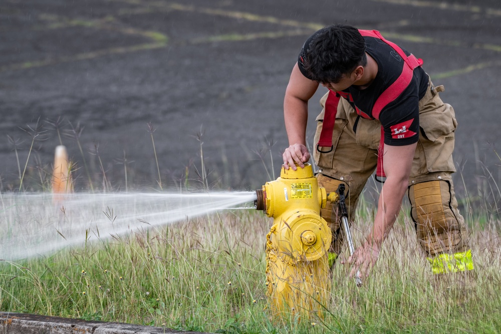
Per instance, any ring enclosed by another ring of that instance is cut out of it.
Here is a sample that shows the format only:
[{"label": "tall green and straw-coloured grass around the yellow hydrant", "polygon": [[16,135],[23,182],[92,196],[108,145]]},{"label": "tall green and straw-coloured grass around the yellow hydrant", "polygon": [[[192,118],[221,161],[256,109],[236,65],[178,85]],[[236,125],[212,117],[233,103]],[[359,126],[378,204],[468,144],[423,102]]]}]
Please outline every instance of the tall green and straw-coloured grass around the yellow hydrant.
[{"label": "tall green and straw-coloured grass around the yellow hydrant", "polygon": [[[81,155],[87,155],[78,142],[81,130],[72,127],[70,132]],[[157,161],[152,133],[150,129]],[[207,189],[202,133],[196,139],[201,158],[197,184]],[[15,149],[20,145],[16,140]],[[99,157],[97,146],[95,154]],[[129,162],[124,152],[119,163],[123,164],[125,190],[129,188]],[[26,166],[25,171],[29,171]],[[82,173],[89,184],[94,183],[93,175],[100,174],[105,192],[119,189],[107,178],[101,157],[98,173],[89,168],[84,159]],[[18,169],[19,186],[24,189],[25,173]],[[156,171],[155,181],[165,190],[158,163]],[[272,175],[273,168],[266,173]],[[46,174],[50,176],[50,172]],[[188,174],[187,167],[178,181],[181,191],[189,188]],[[402,213],[363,287],[357,288],[348,278],[349,268],[340,263],[334,267],[328,278],[331,298],[322,305],[323,317],[284,314],[278,318],[267,308],[264,245],[270,220],[255,210],[226,211],[162,228],[131,229],[111,239],[89,239],[86,234],[81,236],[79,247],[16,262],[0,260],[0,311],[222,333],[499,332],[499,190],[494,178],[486,174],[489,182],[485,189],[491,189],[492,198],[465,194],[462,201],[470,227],[473,271],[432,275],[417,244],[413,223]],[[49,180],[41,180],[40,189],[49,188]],[[24,219],[22,214],[7,215],[7,208],[17,204],[4,200],[1,191],[0,197],[1,219],[12,220],[7,226]],[[478,203],[485,214],[475,213]],[[113,208],[105,214],[114,219]],[[374,214],[371,201],[362,200],[352,229],[355,243],[367,234]]]}]

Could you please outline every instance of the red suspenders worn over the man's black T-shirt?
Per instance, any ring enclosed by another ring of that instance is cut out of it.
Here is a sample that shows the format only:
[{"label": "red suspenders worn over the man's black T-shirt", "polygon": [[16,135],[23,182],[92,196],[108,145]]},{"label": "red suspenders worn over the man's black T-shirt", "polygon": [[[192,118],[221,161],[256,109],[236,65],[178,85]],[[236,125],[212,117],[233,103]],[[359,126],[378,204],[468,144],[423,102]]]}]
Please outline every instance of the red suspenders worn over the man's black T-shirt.
[{"label": "red suspenders worn over the man's black T-shirt", "polygon": [[[421,59],[417,59],[414,55],[407,56],[403,50],[390,41],[387,41],[381,36],[377,30],[359,30],[362,36],[374,37],[380,39],[388,44],[398,55],[405,61],[407,66],[403,66],[400,76],[391,84],[376,100],[372,108],[372,117],[379,120],[379,114],[390,102],[396,100],[400,94],[409,86],[414,75],[414,69],[423,65]],[[322,131],[320,133],[320,140],[317,144],[317,151],[320,153],[328,153],[333,150],[332,145],[332,132],[334,131],[334,121],[336,120],[336,113],[338,111],[340,95],[338,93],[329,92],[327,101],[325,103],[324,123],[322,124]],[[329,147],[328,151],[321,151],[319,147]],[[383,148],[384,148],[384,129],[381,126],[381,140],[378,147],[378,163],[376,169],[376,176],[385,177],[383,169]]]}]

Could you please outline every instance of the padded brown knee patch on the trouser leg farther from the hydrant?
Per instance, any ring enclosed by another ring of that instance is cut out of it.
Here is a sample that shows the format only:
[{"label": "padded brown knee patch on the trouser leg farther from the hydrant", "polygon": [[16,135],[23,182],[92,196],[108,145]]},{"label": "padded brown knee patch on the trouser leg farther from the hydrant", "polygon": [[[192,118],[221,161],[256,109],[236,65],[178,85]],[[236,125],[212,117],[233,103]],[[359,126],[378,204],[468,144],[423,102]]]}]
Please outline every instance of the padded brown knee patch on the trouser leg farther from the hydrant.
[{"label": "padded brown knee patch on the trouser leg farther from the hydrant", "polygon": [[[411,216],[416,224],[417,238],[428,256],[463,250],[462,217],[456,216],[450,183],[434,180],[409,187]],[[459,219],[458,219],[459,218]]]}]

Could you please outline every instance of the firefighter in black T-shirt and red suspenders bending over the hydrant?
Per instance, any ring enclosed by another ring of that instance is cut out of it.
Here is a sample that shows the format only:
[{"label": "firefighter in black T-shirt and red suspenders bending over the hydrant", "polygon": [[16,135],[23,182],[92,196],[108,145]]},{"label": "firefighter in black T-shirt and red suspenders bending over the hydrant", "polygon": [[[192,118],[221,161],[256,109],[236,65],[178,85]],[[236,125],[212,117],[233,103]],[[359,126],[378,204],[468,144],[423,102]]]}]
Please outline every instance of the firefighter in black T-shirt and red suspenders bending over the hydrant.
[{"label": "firefighter in black T-shirt and red suspenders bending over the hydrant", "polygon": [[[348,258],[351,276],[367,276],[379,257],[407,193],[416,236],[434,273],[473,268],[464,219],[457,209],[451,173],[454,110],[444,104],[422,61],[377,31],[333,25],[305,42],[284,99],[290,146],[286,168],[304,167],[308,101],[320,85],[313,159],[319,185],[347,189],[350,217],[367,179],[385,178],[373,227]],[[330,260],[341,252],[343,234],[331,207],[321,211],[333,235]],[[332,215],[332,217],[331,217]]]}]

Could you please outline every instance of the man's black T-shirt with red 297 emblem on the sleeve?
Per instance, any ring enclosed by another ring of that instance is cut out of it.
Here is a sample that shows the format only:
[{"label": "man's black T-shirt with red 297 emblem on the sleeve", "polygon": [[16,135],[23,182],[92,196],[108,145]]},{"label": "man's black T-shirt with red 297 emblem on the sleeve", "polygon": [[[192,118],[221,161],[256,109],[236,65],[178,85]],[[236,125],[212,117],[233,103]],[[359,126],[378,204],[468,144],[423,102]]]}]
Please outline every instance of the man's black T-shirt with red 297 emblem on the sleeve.
[{"label": "man's black T-shirt with red 297 emblem on the sleeve", "polygon": [[[404,60],[384,41],[374,37],[364,37],[366,52],[378,64],[378,73],[374,81],[365,89],[351,86],[339,92],[357,114],[364,118],[374,119],[372,109],[379,96],[400,76],[405,64]],[[305,77],[309,77],[303,67],[302,55],[308,48],[308,39],[298,59],[299,69]],[[406,55],[410,55],[402,49]],[[413,78],[398,98],[386,105],[379,114],[379,121],[384,129],[384,143],[392,146],[403,146],[416,143],[419,139],[419,100],[428,88],[428,75],[421,67],[414,69]],[[359,117],[360,117],[359,116]],[[358,119],[357,119],[358,120]],[[358,122],[357,122],[358,123]],[[357,124],[356,123],[356,124]],[[354,131],[356,131],[356,124]]]}]

